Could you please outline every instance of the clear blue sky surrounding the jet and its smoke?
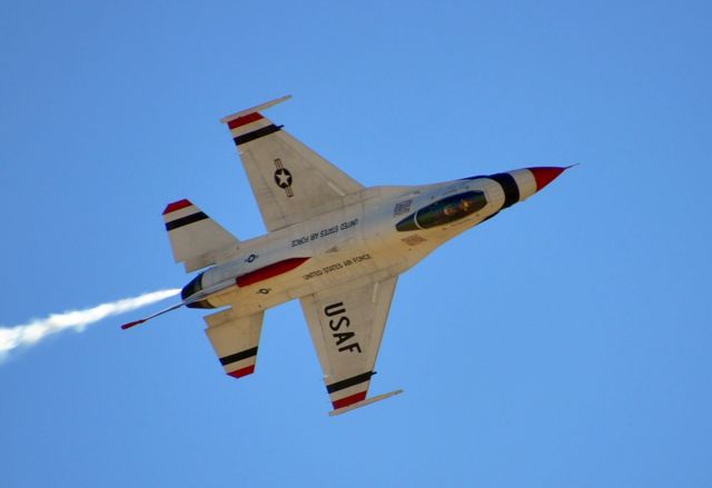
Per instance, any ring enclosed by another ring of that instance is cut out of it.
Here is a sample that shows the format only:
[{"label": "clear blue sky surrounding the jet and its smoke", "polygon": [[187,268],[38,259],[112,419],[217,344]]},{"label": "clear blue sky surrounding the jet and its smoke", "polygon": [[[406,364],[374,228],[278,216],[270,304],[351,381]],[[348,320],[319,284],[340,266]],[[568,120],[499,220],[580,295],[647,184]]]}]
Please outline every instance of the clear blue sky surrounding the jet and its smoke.
[{"label": "clear blue sky surrounding the jet and its smoke", "polygon": [[328,418],[295,302],[241,382],[199,311],[140,310],[0,365],[0,485],[712,486],[711,13],[4,2],[0,325],[185,285],[169,201],[263,233],[218,119],[285,93],[366,186],[581,166],[400,279],[372,392],[404,395]]}]

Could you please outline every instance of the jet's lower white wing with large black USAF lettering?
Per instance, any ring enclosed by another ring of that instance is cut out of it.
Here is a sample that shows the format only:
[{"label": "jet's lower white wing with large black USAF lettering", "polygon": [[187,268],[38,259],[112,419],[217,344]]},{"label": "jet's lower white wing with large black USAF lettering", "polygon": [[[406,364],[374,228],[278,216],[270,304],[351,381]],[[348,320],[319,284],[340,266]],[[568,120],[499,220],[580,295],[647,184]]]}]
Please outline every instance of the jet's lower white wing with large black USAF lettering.
[{"label": "jet's lower white wing with large black USAF lettering", "polygon": [[397,277],[301,298],[324,371],[324,382],[337,415],[399,394],[366,399]]}]

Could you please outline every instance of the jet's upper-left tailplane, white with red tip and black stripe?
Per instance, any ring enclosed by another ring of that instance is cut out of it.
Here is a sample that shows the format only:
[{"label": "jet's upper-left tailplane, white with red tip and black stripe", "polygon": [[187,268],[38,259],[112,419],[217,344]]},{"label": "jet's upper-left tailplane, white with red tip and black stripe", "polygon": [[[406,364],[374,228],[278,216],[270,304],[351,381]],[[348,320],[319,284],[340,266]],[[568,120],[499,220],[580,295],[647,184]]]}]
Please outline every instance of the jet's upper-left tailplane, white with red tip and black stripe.
[{"label": "jet's upper-left tailplane, white with red tip and black stripe", "polygon": [[169,203],[164,221],[176,262],[186,272],[219,263],[235,256],[239,240],[189,200]]}]

